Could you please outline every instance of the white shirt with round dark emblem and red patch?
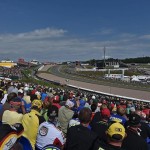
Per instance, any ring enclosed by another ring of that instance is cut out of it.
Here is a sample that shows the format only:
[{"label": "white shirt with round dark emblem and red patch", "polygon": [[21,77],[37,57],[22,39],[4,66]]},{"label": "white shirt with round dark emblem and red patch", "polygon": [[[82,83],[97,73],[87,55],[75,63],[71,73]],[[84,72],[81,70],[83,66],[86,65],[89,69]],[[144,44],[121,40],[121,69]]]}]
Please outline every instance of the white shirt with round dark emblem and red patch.
[{"label": "white shirt with round dark emblem and red patch", "polygon": [[57,129],[54,124],[49,122],[43,122],[38,129],[38,135],[36,139],[36,146],[43,148],[46,145],[53,144],[55,146],[63,146],[65,138],[63,133]]}]

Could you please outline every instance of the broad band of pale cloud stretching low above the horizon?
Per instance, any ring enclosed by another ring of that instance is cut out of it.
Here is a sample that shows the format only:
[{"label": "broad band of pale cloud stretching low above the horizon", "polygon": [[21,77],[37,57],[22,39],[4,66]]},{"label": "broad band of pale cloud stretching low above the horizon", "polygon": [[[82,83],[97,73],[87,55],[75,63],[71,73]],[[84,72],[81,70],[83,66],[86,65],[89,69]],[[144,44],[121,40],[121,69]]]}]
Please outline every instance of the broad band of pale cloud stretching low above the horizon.
[{"label": "broad band of pale cloud stretching low above the horizon", "polygon": [[[103,32],[104,33],[104,32]],[[150,55],[150,43],[130,33],[112,33],[103,39],[69,36],[67,30],[56,28],[36,29],[31,32],[0,35],[0,59],[24,58],[39,61],[75,61],[102,59],[104,46],[106,56],[127,58]],[[148,37],[148,36],[147,36]]]}]

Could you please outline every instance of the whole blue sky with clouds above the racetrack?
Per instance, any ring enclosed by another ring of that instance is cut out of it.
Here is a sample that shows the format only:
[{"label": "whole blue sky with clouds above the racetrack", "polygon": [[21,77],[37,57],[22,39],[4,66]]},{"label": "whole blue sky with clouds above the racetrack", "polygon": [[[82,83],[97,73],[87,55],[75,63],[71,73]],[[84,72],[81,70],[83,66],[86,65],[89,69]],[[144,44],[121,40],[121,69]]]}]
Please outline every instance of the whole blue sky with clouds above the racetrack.
[{"label": "whole blue sky with clouds above the racetrack", "polygon": [[150,56],[150,1],[1,0],[0,60]]}]

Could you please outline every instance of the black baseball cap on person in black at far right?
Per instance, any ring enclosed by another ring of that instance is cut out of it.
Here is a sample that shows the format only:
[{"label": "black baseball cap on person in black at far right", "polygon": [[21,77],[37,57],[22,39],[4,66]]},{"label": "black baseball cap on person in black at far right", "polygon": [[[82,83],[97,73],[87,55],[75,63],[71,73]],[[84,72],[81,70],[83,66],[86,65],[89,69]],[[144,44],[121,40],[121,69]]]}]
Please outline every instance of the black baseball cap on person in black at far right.
[{"label": "black baseball cap on person in black at far right", "polygon": [[131,114],[129,116],[129,125],[130,126],[138,126],[140,124],[141,117],[137,114]]}]

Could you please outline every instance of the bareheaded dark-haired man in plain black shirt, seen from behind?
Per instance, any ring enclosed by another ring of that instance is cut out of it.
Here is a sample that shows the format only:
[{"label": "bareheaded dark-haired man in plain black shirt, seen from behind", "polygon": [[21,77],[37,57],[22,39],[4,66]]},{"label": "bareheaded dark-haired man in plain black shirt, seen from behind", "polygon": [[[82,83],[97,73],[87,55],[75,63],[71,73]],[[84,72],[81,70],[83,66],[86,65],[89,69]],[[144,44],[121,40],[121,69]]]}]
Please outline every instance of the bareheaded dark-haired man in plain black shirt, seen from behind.
[{"label": "bareheaded dark-haired man in plain black shirt, seen from behind", "polygon": [[92,111],[83,108],[79,113],[80,125],[68,129],[66,150],[97,150],[98,136],[88,126],[91,121]]}]

